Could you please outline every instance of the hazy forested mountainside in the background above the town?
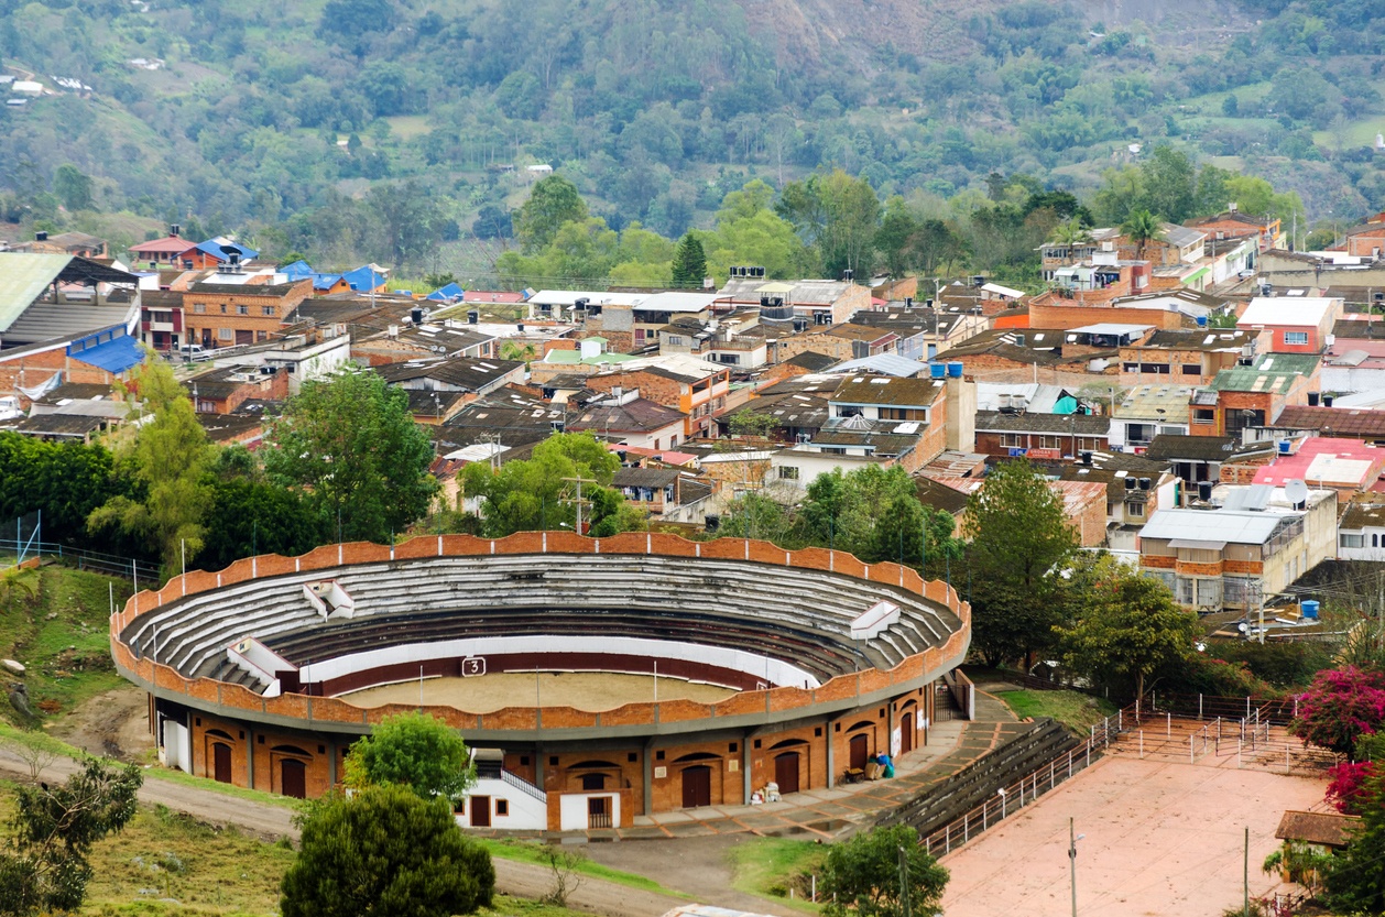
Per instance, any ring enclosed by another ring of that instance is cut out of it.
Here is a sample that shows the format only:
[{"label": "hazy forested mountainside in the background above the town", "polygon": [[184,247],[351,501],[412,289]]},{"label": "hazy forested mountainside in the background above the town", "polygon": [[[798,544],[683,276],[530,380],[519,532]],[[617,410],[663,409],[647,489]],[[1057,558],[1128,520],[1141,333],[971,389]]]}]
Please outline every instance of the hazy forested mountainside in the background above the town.
[{"label": "hazy forested mountainside in the background above the town", "polygon": [[[1022,173],[1082,193],[1129,144],[1161,143],[1298,191],[1312,217],[1385,206],[1379,4],[0,0],[0,15],[8,72],[90,86],[0,109],[0,219],[25,231],[127,244],[177,220],[271,258],[421,274],[447,266],[438,242],[508,235],[530,163],[611,229],[676,237],[751,177],[841,168],[881,199],[931,199]],[[55,181],[64,163],[78,177]]]}]

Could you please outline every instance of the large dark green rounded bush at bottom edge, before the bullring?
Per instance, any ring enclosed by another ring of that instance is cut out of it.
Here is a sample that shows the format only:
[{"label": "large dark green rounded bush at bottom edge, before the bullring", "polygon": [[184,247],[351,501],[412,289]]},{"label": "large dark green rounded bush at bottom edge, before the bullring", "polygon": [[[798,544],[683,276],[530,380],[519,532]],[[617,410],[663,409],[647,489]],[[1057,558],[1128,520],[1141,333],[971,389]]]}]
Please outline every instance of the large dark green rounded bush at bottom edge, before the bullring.
[{"label": "large dark green rounded bush at bottom edge, before the bullring", "polygon": [[489,907],[496,869],[447,799],[371,785],[309,810],[284,874],[284,917],[470,914]]}]

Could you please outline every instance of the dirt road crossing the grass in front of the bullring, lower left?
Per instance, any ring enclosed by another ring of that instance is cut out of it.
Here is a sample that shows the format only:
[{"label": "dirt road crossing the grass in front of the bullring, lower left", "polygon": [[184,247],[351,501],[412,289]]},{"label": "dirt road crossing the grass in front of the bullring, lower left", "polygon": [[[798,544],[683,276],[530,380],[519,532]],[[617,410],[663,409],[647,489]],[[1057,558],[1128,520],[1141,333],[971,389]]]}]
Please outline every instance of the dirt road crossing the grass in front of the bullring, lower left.
[{"label": "dirt road crossing the grass in front of the bullring, lower left", "polygon": [[[71,759],[61,758],[48,765],[43,777],[65,780],[78,769]],[[28,765],[11,748],[0,747],[0,772],[22,780],[29,778]],[[165,805],[176,812],[201,819],[209,824],[234,826],[255,837],[273,841],[281,837],[298,838],[292,809],[266,805],[249,799],[227,796],[212,790],[188,787],[161,780],[152,769],[145,772],[140,802]],[[543,898],[553,888],[548,871],[532,863],[496,859],[496,889],[519,898]],[[568,907],[608,917],[658,917],[686,900],[637,891],[596,878],[584,878],[568,899]]]}]

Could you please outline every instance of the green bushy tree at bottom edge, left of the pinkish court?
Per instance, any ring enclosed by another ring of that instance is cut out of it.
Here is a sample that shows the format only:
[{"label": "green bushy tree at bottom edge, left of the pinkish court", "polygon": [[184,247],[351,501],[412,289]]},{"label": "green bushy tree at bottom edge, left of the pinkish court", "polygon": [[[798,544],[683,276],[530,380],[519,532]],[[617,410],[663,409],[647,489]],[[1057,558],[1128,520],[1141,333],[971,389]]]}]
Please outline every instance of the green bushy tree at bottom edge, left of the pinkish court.
[{"label": "green bushy tree at bottom edge, left of the pinkish court", "polygon": [[834,844],[823,864],[819,898],[828,917],[933,917],[942,914],[947,869],[907,824],[871,828]]}]

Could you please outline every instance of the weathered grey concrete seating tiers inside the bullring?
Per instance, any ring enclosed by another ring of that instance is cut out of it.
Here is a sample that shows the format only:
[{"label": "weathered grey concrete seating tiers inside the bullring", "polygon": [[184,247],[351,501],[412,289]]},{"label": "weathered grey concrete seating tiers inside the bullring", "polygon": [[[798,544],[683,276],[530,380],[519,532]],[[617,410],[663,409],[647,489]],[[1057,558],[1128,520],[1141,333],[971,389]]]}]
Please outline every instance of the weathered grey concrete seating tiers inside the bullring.
[{"label": "weathered grey concrete seating tiers inside the bullring", "polygon": [[[323,619],[303,585],[335,579],[356,603]],[[850,623],[882,597],[900,619],[877,637]],[[140,615],[120,640],[187,677],[258,690],[226,662],[256,637],[301,665],[367,648],[468,636],[587,633],[734,647],[799,665],[823,680],[891,669],[961,626],[917,593],[843,575],[740,560],[658,554],[449,555],[355,564],[241,582]]]}]

